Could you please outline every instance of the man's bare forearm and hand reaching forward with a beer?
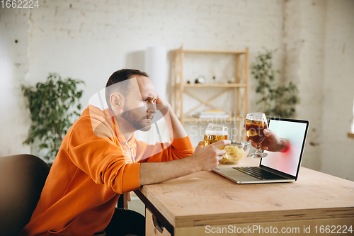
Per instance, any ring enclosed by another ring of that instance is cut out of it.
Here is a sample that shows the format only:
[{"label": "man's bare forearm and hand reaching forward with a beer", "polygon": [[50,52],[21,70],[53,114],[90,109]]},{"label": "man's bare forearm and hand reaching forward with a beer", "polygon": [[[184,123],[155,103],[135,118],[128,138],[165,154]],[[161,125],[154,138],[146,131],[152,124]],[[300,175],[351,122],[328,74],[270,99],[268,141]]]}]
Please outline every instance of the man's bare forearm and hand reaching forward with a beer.
[{"label": "man's bare forearm and hand reaching forward with a beer", "polygon": [[170,179],[176,179],[193,172],[209,170],[217,166],[225,150],[219,147],[229,145],[231,141],[220,140],[204,147],[203,142],[195,147],[195,152],[190,157],[173,160],[171,162],[149,162],[140,164],[139,183],[156,184]]}]

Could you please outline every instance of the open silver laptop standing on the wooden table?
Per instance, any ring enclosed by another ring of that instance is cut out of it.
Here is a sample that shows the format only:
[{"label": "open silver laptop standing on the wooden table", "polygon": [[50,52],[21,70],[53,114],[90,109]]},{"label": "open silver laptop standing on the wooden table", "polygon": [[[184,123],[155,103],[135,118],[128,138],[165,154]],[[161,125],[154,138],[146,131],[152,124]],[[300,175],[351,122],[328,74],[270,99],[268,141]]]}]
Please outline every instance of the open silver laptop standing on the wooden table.
[{"label": "open silver laptop standing on the wooden table", "polygon": [[282,183],[297,180],[309,129],[308,120],[270,118],[268,128],[290,142],[287,152],[268,152],[258,167],[219,167],[212,171],[237,184]]}]

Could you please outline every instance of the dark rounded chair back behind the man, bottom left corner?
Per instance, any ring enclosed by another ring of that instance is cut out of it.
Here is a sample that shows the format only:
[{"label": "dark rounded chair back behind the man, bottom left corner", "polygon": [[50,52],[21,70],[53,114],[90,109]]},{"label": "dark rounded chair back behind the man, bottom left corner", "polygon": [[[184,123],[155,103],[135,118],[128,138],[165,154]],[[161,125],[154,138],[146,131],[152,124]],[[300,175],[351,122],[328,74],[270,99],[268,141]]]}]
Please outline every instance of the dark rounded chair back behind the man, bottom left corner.
[{"label": "dark rounded chair back behind the man, bottom left corner", "polygon": [[0,157],[0,235],[18,235],[37,206],[50,166],[39,157]]}]

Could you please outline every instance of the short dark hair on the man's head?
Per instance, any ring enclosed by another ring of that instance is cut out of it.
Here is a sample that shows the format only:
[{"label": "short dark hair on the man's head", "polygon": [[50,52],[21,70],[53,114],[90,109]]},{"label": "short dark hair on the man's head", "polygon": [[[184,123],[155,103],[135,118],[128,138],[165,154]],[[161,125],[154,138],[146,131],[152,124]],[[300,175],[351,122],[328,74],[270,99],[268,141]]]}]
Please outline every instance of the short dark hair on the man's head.
[{"label": "short dark hair on the man's head", "polygon": [[[130,90],[129,86],[119,86],[118,83],[134,78],[132,75],[149,77],[147,73],[139,71],[139,69],[120,69],[114,72],[108,79],[107,84],[105,84],[105,101],[110,109],[112,109],[112,106],[110,105],[110,95],[118,92],[122,94],[122,96],[127,96],[127,93]],[[116,85],[113,86],[114,84]]]}]

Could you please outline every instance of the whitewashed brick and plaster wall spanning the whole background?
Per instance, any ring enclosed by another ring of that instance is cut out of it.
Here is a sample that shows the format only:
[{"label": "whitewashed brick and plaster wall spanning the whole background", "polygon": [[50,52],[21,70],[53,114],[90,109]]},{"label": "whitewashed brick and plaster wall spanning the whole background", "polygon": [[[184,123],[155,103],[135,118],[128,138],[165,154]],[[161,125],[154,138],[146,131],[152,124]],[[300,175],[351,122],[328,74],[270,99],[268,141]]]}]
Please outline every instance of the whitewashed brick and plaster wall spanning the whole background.
[{"label": "whitewashed brick and plaster wall spanning the whole background", "polygon": [[[350,67],[353,10],[350,0],[46,0],[40,1],[38,9],[0,9],[0,104],[1,114],[6,114],[0,118],[0,155],[37,153],[21,144],[30,125],[18,89],[21,83],[33,85],[44,81],[49,72],[83,79],[86,86],[81,103],[85,107],[115,70],[144,69],[147,47],[249,47],[251,60],[262,47],[267,47],[279,49],[275,68],[282,70],[284,80],[292,79],[298,84],[298,118],[311,122],[304,166],[354,180],[353,174],[349,174],[353,169],[350,153],[354,140],[348,139],[344,131],[350,129],[346,122],[352,115],[346,108],[353,108],[354,96],[354,73]],[[344,42],[344,53],[333,49],[333,45],[342,48]],[[169,62],[171,65],[171,52]],[[171,73],[170,67],[170,79]],[[341,83],[333,85],[332,77],[342,79]],[[256,110],[255,86],[251,79],[251,111]],[[342,88],[348,91],[342,93]],[[169,88],[170,99],[171,91]],[[336,99],[341,96],[341,101]],[[333,101],[337,101],[336,106],[331,106]],[[345,125],[327,125],[335,123],[336,114],[342,112],[346,112]],[[325,140],[323,133],[332,127],[343,130]],[[192,137],[193,144],[200,138]],[[336,148],[329,143],[335,143]],[[350,162],[351,166],[333,165],[333,154],[336,163]]]}]

